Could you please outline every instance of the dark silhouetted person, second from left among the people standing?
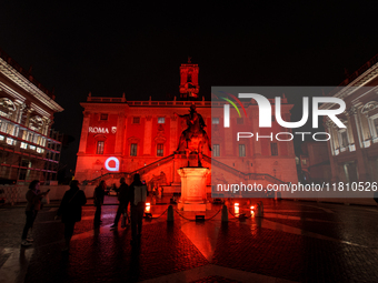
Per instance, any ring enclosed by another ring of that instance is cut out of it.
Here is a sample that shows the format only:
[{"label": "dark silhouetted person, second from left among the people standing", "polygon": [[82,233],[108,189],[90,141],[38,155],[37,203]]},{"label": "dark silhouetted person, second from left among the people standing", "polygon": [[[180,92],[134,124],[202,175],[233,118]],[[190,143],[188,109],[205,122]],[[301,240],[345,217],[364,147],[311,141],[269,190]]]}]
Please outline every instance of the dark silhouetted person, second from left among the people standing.
[{"label": "dark silhouetted person, second from left among the people standing", "polygon": [[78,185],[77,180],[71,181],[70,189],[64,193],[56,216],[56,220],[61,216],[61,222],[64,223],[66,246],[62,251],[69,250],[74,223],[81,221],[81,206],[87,203],[86,194]]}]

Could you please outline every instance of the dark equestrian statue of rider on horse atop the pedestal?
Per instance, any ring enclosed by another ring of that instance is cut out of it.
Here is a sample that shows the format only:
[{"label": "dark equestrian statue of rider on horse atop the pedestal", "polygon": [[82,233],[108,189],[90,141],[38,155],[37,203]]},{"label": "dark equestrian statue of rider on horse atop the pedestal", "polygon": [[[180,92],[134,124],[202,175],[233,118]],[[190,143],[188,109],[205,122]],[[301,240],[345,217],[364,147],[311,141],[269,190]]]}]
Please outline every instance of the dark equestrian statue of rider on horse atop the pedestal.
[{"label": "dark equestrian statue of rider on horse atop the pedestal", "polygon": [[[202,166],[202,148],[207,143],[209,150],[211,151],[211,143],[209,135],[203,130],[206,127],[203,118],[196,111],[196,105],[190,105],[190,113],[185,115],[175,115],[183,118],[187,120],[187,130],[181,133],[179,145],[177,148],[178,152],[186,152],[187,159],[189,161],[190,153],[198,153],[198,166]],[[188,162],[189,164],[189,162]]]}]

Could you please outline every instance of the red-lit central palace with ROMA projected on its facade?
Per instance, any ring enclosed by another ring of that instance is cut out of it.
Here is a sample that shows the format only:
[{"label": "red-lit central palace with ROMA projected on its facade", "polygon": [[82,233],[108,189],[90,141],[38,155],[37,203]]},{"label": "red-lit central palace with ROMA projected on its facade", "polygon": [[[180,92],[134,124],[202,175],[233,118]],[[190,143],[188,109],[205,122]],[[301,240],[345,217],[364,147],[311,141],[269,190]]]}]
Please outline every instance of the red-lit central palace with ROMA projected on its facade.
[{"label": "red-lit central palace with ROMA projected on its facade", "polygon": [[[180,97],[172,101],[127,101],[122,98],[100,98],[89,94],[83,107],[83,122],[77,159],[76,179],[79,181],[109,180],[117,183],[121,175],[130,178],[139,172],[148,183],[166,185],[165,192],[180,190],[179,168],[188,164],[182,152],[177,152],[179,139],[188,128],[180,115],[190,105],[202,115],[212,151],[203,146],[203,166],[217,166],[217,179],[240,178],[250,173],[257,179],[275,182],[296,182],[297,170],[292,141],[271,142],[269,139],[236,140],[238,125],[247,123],[259,131],[256,101],[242,102],[248,118],[231,112],[230,128],[222,127],[223,102],[205,101],[199,95],[199,68],[187,63],[180,67]],[[291,104],[284,98],[282,117],[290,119]],[[270,100],[273,107],[273,100]],[[235,111],[236,112],[236,111]],[[217,114],[218,113],[218,114]],[[221,121],[220,121],[221,120]],[[242,120],[242,121],[241,121]],[[273,122],[267,132],[286,132]],[[243,172],[243,173],[242,173]],[[210,184],[211,175],[209,175]],[[130,179],[129,179],[130,182]]]}]

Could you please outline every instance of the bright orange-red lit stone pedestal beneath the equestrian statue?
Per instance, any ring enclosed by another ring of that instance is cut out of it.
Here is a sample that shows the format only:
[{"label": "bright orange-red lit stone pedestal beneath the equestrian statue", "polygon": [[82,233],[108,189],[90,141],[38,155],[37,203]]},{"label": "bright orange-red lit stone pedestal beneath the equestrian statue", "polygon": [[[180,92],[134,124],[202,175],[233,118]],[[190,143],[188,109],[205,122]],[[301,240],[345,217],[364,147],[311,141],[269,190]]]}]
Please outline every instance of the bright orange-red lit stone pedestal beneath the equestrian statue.
[{"label": "bright orange-red lit stone pedestal beneath the equestrian statue", "polygon": [[181,176],[181,200],[178,209],[183,211],[206,211],[211,209],[207,203],[207,176],[208,168],[180,168],[178,174]]}]

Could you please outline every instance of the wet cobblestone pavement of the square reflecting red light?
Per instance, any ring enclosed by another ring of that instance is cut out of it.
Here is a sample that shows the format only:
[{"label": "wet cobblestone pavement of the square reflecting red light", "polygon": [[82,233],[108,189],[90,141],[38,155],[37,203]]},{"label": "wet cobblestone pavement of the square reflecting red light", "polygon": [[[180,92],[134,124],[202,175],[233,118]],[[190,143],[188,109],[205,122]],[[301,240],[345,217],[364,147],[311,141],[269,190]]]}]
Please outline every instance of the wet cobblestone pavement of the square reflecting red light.
[{"label": "wet cobblestone pavement of the square reflecting red light", "polygon": [[[168,198],[151,206],[153,216]],[[165,203],[166,202],[166,203]],[[252,201],[253,202],[253,201]],[[131,231],[111,231],[115,198],[107,199],[102,223],[93,228],[94,208],[83,208],[68,254],[63,225],[51,203],[34,223],[34,243],[20,246],[24,205],[0,208],[0,282],[378,282],[378,209],[316,202],[263,200],[263,218],[229,222],[211,211],[167,213],[143,221],[140,245]],[[176,208],[175,208],[176,209]],[[247,205],[240,212],[250,215]]]}]

